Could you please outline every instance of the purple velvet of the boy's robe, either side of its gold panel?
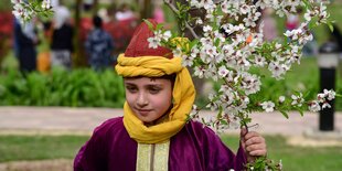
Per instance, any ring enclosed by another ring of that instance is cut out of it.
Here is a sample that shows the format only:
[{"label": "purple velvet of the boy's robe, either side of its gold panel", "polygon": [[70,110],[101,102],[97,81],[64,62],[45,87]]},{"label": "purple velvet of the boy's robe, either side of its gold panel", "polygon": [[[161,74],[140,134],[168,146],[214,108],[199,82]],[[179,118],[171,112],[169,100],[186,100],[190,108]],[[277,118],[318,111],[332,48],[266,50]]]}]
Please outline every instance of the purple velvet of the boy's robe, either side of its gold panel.
[{"label": "purple velvet of the boy's robe, either side of its gold panel", "polygon": [[[74,161],[75,171],[136,171],[138,143],[126,131],[122,117],[97,127]],[[210,128],[190,121],[170,140],[169,171],[244,170],[242,148],[235,156]]]}]

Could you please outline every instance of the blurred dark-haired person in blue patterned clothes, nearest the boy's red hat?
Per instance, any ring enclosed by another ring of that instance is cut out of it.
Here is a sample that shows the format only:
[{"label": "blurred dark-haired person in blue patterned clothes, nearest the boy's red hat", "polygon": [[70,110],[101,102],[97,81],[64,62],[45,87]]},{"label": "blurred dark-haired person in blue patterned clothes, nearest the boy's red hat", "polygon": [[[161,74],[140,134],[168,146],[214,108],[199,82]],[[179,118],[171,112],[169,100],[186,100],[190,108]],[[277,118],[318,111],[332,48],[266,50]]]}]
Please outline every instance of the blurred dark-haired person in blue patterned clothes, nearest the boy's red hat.
[{"label": "blurred dark-haired person in blue patterned clothes, nearest the boy's red hat", "polygon": [[87,35],[85,49],[88,56],[88,63],[95,71],[103,71],[113,66],[114,60],[111,53],[114,41],[109,33],[103,29],[103,20],[98,15],[93,18],[94,29]]}]

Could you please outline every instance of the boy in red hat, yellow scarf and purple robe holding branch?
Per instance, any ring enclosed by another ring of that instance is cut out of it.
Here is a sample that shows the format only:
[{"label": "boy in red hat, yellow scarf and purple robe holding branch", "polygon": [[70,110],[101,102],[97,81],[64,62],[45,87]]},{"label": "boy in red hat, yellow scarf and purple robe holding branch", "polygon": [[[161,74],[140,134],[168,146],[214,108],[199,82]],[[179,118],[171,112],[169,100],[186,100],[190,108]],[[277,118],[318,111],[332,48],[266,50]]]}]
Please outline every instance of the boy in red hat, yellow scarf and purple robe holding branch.
[{"label": "boy in red hat, yellow scarf and purple robe holding branch", "polygon": [[[151,21],[153,24],[156,22]],[[136,30],[116,71],[124,76],[124,117],[97,127],[79,150],[74,169],[81,170],[244,170],[254,157],[266,156],[265,139],[242,129],[235,156],[207,127],[186,122],[195,90],[181,57],[168,49],[149,49],[146,23]]]}]

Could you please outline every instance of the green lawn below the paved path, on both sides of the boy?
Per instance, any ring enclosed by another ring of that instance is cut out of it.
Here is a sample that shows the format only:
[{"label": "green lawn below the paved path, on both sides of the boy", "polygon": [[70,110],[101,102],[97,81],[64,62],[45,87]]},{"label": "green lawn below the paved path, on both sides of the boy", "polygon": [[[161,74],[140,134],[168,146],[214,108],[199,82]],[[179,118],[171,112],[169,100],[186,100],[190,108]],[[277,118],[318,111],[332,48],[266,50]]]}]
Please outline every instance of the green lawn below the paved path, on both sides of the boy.
[{"label": "green lawn below the paved path, on both sides of the boy", "polygon": [[[0,162],[17,160],[73,159],[87,136],[0,136]],[[222,136],[233,150],[238,147],[237,136]],[[286,145],[280,136],[267,136],[268,157],[282,160],[288,171],[340,171],[342,150],[331,148],[302,148]]]}]

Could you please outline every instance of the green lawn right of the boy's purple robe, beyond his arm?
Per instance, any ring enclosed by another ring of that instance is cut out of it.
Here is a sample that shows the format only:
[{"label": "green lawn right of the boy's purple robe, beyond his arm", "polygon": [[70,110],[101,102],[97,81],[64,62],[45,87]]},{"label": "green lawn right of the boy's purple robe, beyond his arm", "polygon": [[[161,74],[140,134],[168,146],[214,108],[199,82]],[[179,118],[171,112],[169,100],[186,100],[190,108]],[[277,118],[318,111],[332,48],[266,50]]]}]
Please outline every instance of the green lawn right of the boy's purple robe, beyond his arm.
[{"label": "green lawn right of the boy's purple robe, beyond his arm", "polygon": [[[237,137],[223,136],[222,139],[236,151]],[[341,147],[292,147],[286,145],[286,139],[280,136],[268,136],[266,141],[269,159],[281,159],[286,171],[340,171],[342,168]]]}]

